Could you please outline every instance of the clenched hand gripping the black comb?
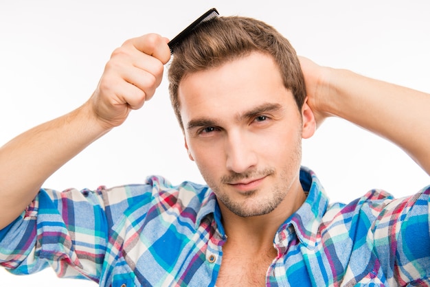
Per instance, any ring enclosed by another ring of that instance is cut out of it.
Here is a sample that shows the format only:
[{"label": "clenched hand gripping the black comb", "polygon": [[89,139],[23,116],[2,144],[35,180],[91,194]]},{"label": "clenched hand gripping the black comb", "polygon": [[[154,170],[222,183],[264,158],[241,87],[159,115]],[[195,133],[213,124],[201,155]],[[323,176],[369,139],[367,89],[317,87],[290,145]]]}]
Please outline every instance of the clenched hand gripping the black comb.
[{"label": "clenched hand gripping the black comb", "polygon": [[131,110],[150,100],[170,60],[168,39],[147,34],[115,49],[87,104],[106,129],[119,126]]}]

